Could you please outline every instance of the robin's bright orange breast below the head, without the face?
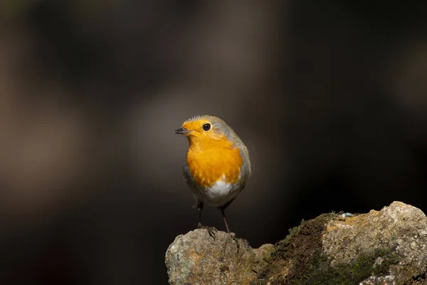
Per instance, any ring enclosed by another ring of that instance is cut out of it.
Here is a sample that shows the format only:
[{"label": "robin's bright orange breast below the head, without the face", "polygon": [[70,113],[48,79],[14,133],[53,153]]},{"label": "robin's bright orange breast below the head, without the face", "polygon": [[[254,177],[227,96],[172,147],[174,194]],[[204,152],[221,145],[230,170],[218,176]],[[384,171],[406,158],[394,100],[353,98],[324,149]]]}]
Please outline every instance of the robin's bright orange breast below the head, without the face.
[{"label": "robin's bright orange breast below the head, without the face", "polygon": [[[228,142],[226,142],[228,143]],[[194,181],[203,187],[210,187],[218,180],[235,183],[239,179],[242,165],[240,150],[231,144],[221,147],[189,147],[186,157],[187,165]]]}]

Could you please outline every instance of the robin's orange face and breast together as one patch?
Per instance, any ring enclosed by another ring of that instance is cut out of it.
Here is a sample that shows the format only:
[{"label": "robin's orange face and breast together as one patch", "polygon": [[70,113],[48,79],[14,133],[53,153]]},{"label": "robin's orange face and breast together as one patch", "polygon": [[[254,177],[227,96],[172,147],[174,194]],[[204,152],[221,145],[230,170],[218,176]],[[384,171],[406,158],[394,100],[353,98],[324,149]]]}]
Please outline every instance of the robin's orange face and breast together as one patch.
[{"label": "robin's orange face and breast together as one patch", "polygon": [[239,180],[241,152],[221,130],[205,119],[185,122],[180,130],[189,139],[186,162],[198,185],[210,187],[218,180],[229,183]]}]

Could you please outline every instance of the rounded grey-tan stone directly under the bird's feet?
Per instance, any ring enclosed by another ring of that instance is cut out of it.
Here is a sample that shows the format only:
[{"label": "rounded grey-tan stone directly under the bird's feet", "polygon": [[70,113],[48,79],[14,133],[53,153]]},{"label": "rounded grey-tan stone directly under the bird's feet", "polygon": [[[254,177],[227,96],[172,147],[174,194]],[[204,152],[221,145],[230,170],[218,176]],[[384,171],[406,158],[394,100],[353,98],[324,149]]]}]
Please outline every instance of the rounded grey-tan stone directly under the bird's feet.
[{"label": "rounded grey-tan stone directly under the bird's feet", "polygon": [[196,229],[176,237],[166,253],[169,284],[250,284],[273,244],[252,249],[233,234]]}]

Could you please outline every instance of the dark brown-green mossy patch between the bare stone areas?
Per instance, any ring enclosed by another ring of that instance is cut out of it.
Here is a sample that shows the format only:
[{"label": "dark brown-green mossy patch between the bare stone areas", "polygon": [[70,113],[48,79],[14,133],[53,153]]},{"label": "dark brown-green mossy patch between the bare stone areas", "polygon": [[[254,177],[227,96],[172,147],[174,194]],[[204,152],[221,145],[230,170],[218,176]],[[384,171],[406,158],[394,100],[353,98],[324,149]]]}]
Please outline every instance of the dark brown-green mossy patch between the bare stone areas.
[{"label": "dark brown-green mossy patch between the bare stone areas", "polygon": [[386,275],[399,258],[394,249],[375,249],[359,254],[352,264],[331,266],[322,252],[322,234],[338,214],[322,214],[302,221],[290,234],[275,244],[266,266],[251,284],[359,284],[371,275]]}]

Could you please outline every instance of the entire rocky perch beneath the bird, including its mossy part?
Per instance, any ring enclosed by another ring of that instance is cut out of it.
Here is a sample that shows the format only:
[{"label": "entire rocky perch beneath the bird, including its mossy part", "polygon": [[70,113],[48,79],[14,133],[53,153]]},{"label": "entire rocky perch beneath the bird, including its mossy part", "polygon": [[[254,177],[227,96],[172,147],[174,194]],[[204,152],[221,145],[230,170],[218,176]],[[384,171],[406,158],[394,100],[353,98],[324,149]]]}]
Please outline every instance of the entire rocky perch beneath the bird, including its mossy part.
[{"label": "entire rocky perch beneath the bird, including its mossy part", "polygon": [[259,249],[196,229],[176,237],[166,266],[172,285],[427,284],[427,218],[402,202],[354,217],[321,214]]}]

